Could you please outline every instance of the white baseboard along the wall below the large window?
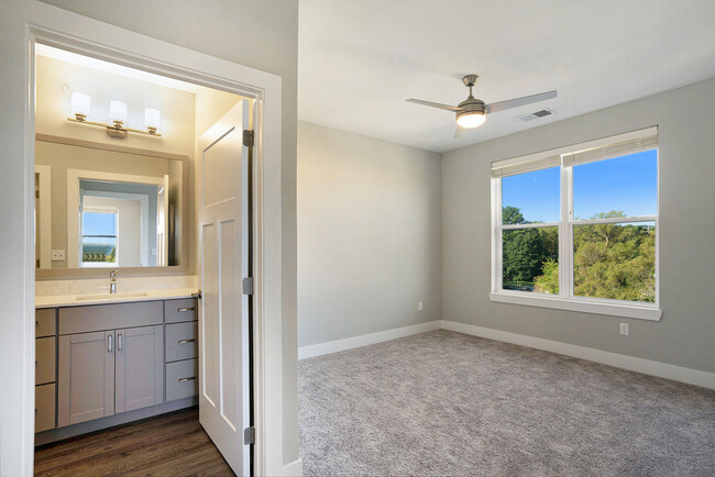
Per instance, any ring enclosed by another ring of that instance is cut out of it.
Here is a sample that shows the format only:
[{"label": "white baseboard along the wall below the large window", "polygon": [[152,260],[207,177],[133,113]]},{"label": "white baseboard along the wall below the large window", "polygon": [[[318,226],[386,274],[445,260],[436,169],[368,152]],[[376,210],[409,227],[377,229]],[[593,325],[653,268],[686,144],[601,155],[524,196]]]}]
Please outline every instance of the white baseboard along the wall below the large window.
[{"label": "white baseboard along the wall below the large window", "polygon": [[635,356],[627,356],[610,353],[592,347],[578,346],[574,344],[561,343],[558,341],[543,340],[540,337],[527,336],[524,334],[509,333],[506,331],[493,330],[490,328],[476,326],[473,324],[458,323],[455,321],[442,320],[441,329],[455,331],[458,333],[471,334],[473,336],[486,337],[490,340],[503,341],[521,346],[543,350],[581,359],[587,359],[617,368],[642,373],[645,375],[658,376],[703,388],[715,389],[715,373],[701,371],[697,369],[684,368],[682,366],[667,363],[653,362]]}]

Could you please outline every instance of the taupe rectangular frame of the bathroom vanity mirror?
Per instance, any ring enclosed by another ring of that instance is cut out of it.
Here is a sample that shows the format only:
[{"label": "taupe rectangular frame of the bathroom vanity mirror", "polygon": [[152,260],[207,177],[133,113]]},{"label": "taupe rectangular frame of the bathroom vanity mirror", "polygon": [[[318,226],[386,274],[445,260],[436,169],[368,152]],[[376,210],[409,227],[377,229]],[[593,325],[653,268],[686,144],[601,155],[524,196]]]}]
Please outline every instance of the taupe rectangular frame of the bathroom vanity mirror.
[{"label": "taupe rectangular frame of the bathroom vanity mirror", "polygon": [[[94,141],[76,140],[73,137],[55,136],[51,134],[35,134],[35,141],[65,144],[70,146],[88,147],[102,151],[113,151],[124,154],[138,154],[142,156],[157,157],[161,159],[174,159],[182,162],[182,214],[179,224],[179,259],[180,265],[168,267],[117,267],[121,277],[156,277],[166,275],[190,275],[189,260],[189,157],[183,154],[164,153],[161,151],[142,149],[118,144],[105,144]],[[34,162],[34,156],[33,156]],[[108,278],[110,268],[35,268],[35,280],[78,280],[84,278]]]}]

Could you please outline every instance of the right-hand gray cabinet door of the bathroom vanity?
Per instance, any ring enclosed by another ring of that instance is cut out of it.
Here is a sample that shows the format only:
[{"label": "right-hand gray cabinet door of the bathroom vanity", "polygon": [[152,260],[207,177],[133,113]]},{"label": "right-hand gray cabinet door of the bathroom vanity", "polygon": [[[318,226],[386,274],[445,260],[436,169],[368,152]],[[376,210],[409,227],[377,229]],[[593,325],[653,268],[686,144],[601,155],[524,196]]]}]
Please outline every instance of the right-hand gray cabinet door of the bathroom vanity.
[{"label": "right-hand gray cabinet door of the bathroom vanity", "polygon": [[117,330],[116,411],[125,412],[164,401],[163,326]]}]

